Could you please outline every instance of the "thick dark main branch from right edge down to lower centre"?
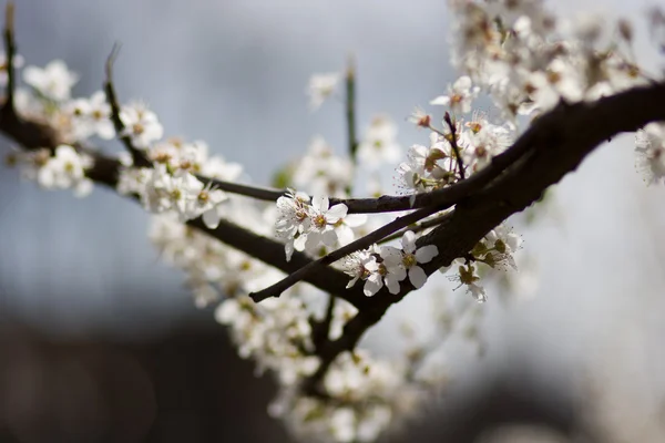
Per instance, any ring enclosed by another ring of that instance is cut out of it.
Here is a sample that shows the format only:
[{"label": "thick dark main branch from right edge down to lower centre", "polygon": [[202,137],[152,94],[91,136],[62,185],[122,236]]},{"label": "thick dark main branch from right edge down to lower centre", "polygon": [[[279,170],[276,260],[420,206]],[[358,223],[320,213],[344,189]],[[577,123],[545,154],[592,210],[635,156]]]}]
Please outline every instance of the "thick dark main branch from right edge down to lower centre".
[{"label": "thick dark main branch from right edge down to lower centre", "polygon": [[[512,214],[538,202],[542,193],[580,166],[603,142],[623,132],[635,132],[647,123],[665,121],[665,83],[638,86],[594,103],[560,103],[541,116],[510,148],[524,155],[481,193],[464,199],[431,233],[420,237],[417,246],[437,245],[439,254],[422,265],[431,275],[471,250],[491,229]],[[510,151],[509,150],[509,151]],[[320,381],[341,352],[352,350],[360,337],[377,323],[388,308],[413,288],[405,280],[397,295],[386,289],[371,298],[344,328],[342,336],[320,349],[321,365],[303,389],[320,392]]]}]

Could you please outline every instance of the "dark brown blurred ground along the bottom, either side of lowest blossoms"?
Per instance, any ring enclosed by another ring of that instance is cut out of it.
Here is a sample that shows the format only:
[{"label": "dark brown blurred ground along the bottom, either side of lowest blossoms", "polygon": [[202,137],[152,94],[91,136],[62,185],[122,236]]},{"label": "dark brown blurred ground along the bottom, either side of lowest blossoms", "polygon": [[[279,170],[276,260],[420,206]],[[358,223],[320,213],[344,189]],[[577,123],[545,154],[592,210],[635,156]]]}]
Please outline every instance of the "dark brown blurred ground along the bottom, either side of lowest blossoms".
[{"label": "dark brown blurred ground along the bottom, either side of lowest blossoms", "polygon": [[[145,343],[53,341],[4,324],[0,356],[2,443],[290,441],[266,413],[274,384],[255,378],[214,324],[181,326]],[[505,426],[538,430],[524,442],[582,433],[571,399],[529,374],[500,374],[474,391],[440,399],[447,413],[432,405],[385,441],[499,442],[487,435]],[[503,441],[519,441],[511,439]]]}]

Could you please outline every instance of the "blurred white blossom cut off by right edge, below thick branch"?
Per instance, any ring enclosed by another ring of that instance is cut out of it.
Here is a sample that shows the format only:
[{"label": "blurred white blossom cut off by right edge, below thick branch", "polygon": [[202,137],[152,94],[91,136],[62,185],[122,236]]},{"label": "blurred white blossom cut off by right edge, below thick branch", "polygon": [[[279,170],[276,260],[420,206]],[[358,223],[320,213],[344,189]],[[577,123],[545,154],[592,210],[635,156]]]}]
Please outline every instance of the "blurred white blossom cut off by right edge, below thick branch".
[{"label": "blurred white blossom cut off by right edge, below thick branch", "polygon": [[647,185],[665,182],[665,125],[649,123],[635,135],[635,164]]}]

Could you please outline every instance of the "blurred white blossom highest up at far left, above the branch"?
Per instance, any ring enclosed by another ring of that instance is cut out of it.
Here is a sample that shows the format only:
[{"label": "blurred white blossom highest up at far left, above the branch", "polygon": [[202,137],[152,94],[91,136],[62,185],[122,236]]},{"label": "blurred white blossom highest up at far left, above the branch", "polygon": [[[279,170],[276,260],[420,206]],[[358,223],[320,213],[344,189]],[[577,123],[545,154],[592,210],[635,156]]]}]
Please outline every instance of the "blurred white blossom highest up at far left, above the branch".
[{"label": "blurred white blossom highest up at far left, above the branch", "polygon": [[44,68],[27,66],[23,80],[44,97],[63,102],[69,100],[79,75],[71,72],[62,60],[53,60]]}]

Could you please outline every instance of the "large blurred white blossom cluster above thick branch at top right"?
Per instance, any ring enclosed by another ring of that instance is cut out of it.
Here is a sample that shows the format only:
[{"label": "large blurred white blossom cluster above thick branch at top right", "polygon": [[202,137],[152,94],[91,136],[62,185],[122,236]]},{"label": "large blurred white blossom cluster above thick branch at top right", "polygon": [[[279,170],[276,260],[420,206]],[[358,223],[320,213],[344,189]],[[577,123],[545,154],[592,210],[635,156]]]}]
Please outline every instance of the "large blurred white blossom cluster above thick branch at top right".
[{"label": "large blurred white blossom cluster above thick branch at top right", "polygon": [[633,32],[625,20],[613,32],[601,17],[560,21],[540,0],[452,0],[451,6],[458,37],[453,61],[464,76],[437,103],[466,107],[469,78],[514,122],[518,114],[542,113],[561,100],[595,100],[646,82],[630,56]]}]

